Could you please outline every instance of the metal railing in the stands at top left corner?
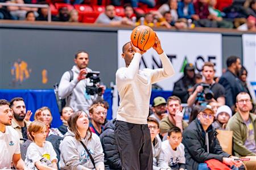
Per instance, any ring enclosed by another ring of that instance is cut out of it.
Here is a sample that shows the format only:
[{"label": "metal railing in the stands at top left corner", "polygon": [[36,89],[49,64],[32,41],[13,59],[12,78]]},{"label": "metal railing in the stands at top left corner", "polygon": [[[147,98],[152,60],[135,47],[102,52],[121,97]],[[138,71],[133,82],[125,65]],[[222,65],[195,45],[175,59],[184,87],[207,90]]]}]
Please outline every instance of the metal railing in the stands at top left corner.
[{"label": "metal railing in the stands at top left corner", "polygon": [[52,21],[51,8],[49,5],[40,4],[26,4],[26,3],[0,3],[0,6],[18,6],[18,7],[32,7],[32,8],[48,8],[47,20],[50,23]]}]

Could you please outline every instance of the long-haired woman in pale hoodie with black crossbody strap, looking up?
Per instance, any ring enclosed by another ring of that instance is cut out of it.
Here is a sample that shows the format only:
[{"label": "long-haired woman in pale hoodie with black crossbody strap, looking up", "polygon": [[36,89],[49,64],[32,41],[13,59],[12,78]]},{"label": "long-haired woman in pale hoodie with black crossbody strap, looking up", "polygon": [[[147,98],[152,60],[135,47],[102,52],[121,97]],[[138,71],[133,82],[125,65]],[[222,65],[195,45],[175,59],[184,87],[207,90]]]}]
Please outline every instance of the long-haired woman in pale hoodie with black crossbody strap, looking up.
[{"label": "long-haired woman in pale hoodie with black crossbody strap, looking up", "polygon": [[[89,119],[82,111],[69,117],[68,132],[60,144],[60,150],[60,169],[104,169],[100,138],[90,131]],[[94,159],[95,166],[89,154]]]}]

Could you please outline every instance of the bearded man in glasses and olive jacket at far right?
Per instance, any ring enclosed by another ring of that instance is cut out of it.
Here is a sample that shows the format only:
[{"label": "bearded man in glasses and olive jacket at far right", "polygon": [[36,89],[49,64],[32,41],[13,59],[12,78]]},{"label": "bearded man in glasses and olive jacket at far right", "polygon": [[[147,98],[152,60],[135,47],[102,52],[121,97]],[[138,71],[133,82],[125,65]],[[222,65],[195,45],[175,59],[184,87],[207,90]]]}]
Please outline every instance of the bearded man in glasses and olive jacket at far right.
[{"label": "bearded man in glasses and olive jacket at far right", "polygon": [[256,116],[250,113],[251,101],[246,92],[237,95],[237,112],[228,121],[233,131],[233,151],[236,156],[250,158],[245,161],[247,169],[256,169]]}]

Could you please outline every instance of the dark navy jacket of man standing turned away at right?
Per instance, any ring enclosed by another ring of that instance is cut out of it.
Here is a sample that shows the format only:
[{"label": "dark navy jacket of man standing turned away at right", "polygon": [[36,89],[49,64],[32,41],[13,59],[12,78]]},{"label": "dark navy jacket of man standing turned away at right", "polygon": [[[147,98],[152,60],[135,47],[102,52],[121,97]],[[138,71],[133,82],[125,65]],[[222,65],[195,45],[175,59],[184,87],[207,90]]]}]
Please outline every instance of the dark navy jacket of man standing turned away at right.
[{"label": "dark navy jacket of man standing turned away at right", "polygon": [[218,81],[225,88],[226,105],[233,108],[236,96],[244,91],[241,80],[229,70],[224,73]]}]

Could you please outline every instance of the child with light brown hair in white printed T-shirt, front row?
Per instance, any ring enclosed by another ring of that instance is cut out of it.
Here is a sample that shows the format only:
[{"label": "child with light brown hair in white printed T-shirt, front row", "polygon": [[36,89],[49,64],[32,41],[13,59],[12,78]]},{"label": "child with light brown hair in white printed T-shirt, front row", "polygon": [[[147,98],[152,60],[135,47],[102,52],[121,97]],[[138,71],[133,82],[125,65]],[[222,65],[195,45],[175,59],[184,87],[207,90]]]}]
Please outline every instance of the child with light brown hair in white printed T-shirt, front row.
[{"label": "child with light brown hair in white printed T-shirt, front row", "polygon": [[57,155],[51,142],[46,141],[47,125],[34,121],[28,126],[33,142],[27,148],[25,163],[30,169],[57,169]]}]

